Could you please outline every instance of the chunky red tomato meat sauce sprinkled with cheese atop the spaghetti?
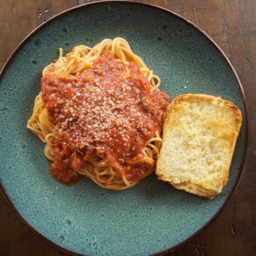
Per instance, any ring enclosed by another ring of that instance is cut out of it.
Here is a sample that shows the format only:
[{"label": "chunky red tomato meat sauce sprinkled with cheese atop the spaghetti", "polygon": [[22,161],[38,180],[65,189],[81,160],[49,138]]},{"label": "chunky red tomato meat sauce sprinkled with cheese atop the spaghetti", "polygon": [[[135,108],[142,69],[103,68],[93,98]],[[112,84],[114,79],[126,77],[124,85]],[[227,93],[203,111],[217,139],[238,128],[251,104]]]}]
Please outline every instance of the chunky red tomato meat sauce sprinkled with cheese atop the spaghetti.
[{"label": "chunky red tomato meat sauce sprinkled with cheese atop the spaghetti", "polygon": [[74,77],[42,77],[43,102],[57,120],[54,178],[74,183],[88,161],[104,159],[130,182],[146,175],[145,142],[160,129],[169,96],[150,92],[150,83],[136,63],[126,73],[123,62],[104,52],[85,72]]}]

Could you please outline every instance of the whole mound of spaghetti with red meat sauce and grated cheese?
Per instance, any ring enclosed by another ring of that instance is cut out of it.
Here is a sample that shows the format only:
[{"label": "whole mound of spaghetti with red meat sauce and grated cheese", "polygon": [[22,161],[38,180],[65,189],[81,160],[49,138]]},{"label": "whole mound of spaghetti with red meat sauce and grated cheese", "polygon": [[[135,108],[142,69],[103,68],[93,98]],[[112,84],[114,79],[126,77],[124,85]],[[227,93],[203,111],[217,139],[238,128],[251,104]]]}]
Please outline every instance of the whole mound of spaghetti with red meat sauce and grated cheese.
[{"label": "whole mound of spaghetti with red meat sauce and grated cheese", "polygon": [[76,46],[43,70],[27,128],[44,143],[53,177],[84,175],[123,190],[155,169],[169,96],[123,38]]}]

